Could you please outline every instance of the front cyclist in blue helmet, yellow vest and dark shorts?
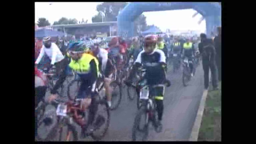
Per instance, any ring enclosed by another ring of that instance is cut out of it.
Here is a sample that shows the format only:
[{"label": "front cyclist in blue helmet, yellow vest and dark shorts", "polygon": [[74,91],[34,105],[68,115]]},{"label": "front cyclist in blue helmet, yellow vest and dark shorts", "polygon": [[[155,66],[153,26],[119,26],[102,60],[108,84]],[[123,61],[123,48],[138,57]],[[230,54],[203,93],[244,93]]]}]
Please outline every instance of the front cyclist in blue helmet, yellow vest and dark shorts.
[{"label": "front cyclist in blue helmet, yellow vest and dark shorts", "polygon": [[[72,43],[69,45],[68,56],[71,57],[69,67],[76,71],[81,80],[81,85],[79,87],[76,99],[82,99],[81,106],[84,111],[86,111],[86,109],[92,103],[93,108],[90,109],[90,112],[95,114],[97,105],[92,101],[94,101],[96,80],[99,75],[99,62],[93,55],[85,53],[85,48],[84,43]],[[60,79],[58,81],[60,81]],[[55,98],[56,97],[51,97],[49,101],[52,101]],[[93,120],[92,117],[89,119],[90,120],[88,121]],[[82,122],[85,124],[84,119],[82,119]],[[99,123],[103,122],[104,121],[101,121]],[[86,125],[82,127],[82,137],[85,136],[85,126]]]}]

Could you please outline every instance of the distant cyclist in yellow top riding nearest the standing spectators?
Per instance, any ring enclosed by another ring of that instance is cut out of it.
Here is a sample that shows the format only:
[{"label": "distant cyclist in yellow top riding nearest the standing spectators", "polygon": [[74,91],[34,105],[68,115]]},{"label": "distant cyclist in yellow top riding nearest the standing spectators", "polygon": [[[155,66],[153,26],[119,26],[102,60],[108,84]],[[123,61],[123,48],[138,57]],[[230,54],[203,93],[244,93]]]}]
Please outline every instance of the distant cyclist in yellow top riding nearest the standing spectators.
[{"label": "distant cyclist in yellow top riding nearest the standing spectators", "polygon": [[195,48],[192,42],[189,39],[186,39],[186,43],[183,44],[182,52],[184,51],[184,57],[188,57],[189,61],[192,61],[192,64],[189,64],[191,76],[193,77],[193,63],[194,63],[194,55]]}]

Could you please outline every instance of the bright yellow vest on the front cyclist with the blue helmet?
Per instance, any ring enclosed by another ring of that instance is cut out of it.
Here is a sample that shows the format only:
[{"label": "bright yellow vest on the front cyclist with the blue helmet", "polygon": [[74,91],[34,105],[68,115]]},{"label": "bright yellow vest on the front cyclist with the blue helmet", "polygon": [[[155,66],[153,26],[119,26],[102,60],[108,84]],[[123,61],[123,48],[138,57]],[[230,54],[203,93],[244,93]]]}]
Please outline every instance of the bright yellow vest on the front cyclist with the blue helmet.
[{"label": "bright yellow vest on the front cyclist with the blue helmet", "polygon": [[86,74],[90,71],[90,62],[93,59],[95,60],[97,66],[97,74],[99,74],[99,61],[97,58],[87,53],[84,53],[78,61],[71,59],[69,67],[78,73]]}]

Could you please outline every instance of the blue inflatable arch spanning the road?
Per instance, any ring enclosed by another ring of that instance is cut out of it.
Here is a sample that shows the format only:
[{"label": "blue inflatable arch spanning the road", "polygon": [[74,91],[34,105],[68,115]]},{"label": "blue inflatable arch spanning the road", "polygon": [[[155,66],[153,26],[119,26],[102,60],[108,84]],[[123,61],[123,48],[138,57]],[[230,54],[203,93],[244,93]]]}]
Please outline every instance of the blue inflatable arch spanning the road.
[{"label": "blue inflatable arch spanning the road", "polygon": [[118,15],[118,35],[133,36],[133,21],[143,12],[194,9],[206,21],[206,34],[210,36],[221,26],[221,5],[217,2],[131,2]]}]

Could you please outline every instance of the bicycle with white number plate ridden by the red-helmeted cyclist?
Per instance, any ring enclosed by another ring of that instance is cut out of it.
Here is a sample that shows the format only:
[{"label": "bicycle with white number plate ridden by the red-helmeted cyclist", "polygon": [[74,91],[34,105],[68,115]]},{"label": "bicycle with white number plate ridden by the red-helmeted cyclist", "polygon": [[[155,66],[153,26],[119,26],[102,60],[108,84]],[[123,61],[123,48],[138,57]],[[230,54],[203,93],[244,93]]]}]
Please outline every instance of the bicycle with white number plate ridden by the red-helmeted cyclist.
[{"label": "bicycle with white number plate ridden by the red-helmeted cyclist", "polygon": [[[141,101],[141,108],[135,116],[134,124],[132,128],[132,141],[136,141],[138,139],[138,133],[143,133],[142,141],[147,140],[149,134],[149,123],[152,122],[152,125],[157,133],[161,132],[162,126],[157,125],[157,111],[156,111],[156,103],[154,100],[154,89],[157,87],[169,87],[170,84],[166,82],[165,84],[158,85],[147,85],[145,81],[139,83],[142,86],[141,92],[139,94],[139,99]],[[144,126],[140,128],[141,117],[145,115]]]}]

